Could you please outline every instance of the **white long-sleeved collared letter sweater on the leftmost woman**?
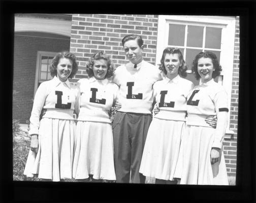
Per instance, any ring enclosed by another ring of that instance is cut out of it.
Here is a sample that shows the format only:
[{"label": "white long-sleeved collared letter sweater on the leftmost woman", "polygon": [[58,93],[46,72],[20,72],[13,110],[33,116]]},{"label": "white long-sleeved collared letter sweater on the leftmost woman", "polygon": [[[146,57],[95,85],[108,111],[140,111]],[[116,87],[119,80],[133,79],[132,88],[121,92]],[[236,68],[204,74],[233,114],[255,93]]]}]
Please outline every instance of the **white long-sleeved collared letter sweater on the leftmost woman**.
[{"label": "white long-sleeved collared letter sweater on the leftmost woman", "polygon": [[69,80],[61,82],[56,76],[41,83],[34,98],[30,116],[29,134],[38,134],[39,117],[42,109],[46,109],[43,118],[74,120],[74,110],[78,112],[79,89]]}]

